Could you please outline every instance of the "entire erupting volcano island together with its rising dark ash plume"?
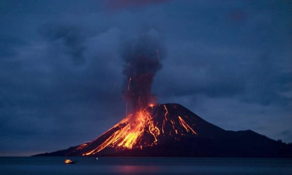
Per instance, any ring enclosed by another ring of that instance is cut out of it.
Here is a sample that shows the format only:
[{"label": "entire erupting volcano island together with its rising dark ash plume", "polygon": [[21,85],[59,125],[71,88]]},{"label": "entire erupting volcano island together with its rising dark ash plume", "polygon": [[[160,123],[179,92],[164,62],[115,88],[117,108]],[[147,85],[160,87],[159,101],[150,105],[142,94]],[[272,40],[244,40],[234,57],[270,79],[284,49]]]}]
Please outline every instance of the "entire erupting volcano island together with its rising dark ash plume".
[{"label": "entire erupting volcano island together with its rising dark ash plume", "polygon": [[153,78],[166,57],[154,30],[123,47],[126,117],[93,141],[48,156],[292,157],[291,146],[251,130],[226,131],[179,104],[156,104]]}]

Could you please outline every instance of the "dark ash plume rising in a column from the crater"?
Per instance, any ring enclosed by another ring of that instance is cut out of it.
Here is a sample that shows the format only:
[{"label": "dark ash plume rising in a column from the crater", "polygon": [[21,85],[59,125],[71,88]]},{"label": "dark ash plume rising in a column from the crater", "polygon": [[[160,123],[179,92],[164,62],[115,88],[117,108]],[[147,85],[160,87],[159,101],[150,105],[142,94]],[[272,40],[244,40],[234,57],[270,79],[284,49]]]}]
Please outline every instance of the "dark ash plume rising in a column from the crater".
[{"label": "dark ash plume rising in a column from the crater", "polygon": [[162,69],[161,61],[166,57],[158,32],[151,29],[138,39],[128,41],[122,50],[126,102],[132,105],[132,110],[155,103],[156,96],[151,92],[153,78]]}]

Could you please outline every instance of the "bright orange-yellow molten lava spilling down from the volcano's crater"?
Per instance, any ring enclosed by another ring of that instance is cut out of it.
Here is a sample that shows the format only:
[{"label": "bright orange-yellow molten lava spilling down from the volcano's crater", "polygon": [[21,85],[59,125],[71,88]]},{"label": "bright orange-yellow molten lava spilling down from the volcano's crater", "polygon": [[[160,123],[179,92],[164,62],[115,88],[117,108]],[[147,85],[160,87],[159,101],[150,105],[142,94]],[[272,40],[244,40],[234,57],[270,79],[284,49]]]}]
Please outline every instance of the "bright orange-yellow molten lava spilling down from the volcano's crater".
[{"label": "bright orange-yellow molten lava spilling down from the volcano's crater", "polygon": [[[128,115],[121,120],[97,138],[103,139],[98,146],[90,147],[97,140],[95,139],[92,142],[82,143],[75,151],[83,152],[82,155],[93,155],[106,148],[114,148],[115,150],[142,149],[163,140],[166,137],[165,131],[169,133],[167,137],[174,137],[174,140],[179,140],[178,136],[185,136],[188,133],[197,135],[197,132],[188,124],[187,116],[168,118],[168,110],[165,105],[165,113],[159,117],[151,115],[149,109],[141,109],[135,115]],[[84,151],[82,151],[83,149]]]}]

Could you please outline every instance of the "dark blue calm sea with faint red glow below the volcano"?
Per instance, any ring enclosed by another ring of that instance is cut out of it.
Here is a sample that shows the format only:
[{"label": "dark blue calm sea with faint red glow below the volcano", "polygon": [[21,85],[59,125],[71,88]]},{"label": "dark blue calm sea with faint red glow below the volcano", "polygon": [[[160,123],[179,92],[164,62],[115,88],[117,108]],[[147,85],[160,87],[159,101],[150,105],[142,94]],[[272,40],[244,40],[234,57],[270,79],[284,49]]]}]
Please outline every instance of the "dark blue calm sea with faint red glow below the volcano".
[{"label": "dark blue calm sea with faint red glow below the volcano", "polygon": [[[64,164],[65,159],[76,164]],[[292,159],[0,157],[0,175],[6,174],[292,175]]]}]

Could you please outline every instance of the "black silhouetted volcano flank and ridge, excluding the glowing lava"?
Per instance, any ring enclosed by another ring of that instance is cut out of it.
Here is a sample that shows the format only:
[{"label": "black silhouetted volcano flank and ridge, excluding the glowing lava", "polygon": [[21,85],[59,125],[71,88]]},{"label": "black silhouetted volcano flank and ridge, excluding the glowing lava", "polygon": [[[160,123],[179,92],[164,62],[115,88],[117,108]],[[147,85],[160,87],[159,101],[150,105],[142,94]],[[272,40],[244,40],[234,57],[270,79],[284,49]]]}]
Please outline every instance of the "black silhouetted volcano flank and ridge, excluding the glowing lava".
[{"label": "black silhouetted volcano flank and ridge, excluding the glowing lava", "polygon": [[[188,123],[194,123],[197,134],[163,135],[158,138],[156,145],[117,150],[109,147],[89,156],[115,156],[115,157],[270,157],[292,158],[292,144],[275,141],[266,136],[246,131],[226,131],[217,127],[187,108],[179,104],[160,104],[149,109],[155,115],[155,122],[164,118],[164,105],[168,109],[168,118],[175,121],[178,116],[188,116]],[[107,131],[98,139],[92,141],[84,149],[76,150],[73,146],[65,150],[34,156],[81,156],[82,154],[98,147],[105,139],[109,138],[116,128]],[[168,133],[169,128],[164,132]],[[145,137],[148,136],[145,134]],[[144,137],[144,136],[143,136]]]}]

